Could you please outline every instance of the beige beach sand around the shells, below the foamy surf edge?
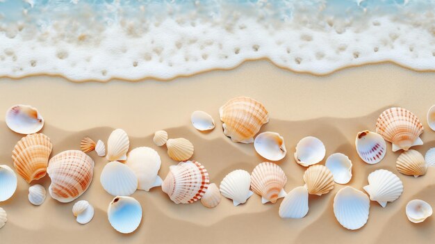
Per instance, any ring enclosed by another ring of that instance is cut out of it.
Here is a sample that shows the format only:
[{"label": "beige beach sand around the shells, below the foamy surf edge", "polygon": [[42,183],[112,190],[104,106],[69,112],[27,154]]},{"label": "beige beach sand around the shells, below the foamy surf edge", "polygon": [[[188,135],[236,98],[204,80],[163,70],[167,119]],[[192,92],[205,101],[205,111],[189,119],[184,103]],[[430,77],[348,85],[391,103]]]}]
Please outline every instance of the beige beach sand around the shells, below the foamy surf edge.
[{"label": "beige beach sand around the shells, below the foamy surf edge", "polygon": [[[391,152],[377,165],[368,165],[354,150],[358,131],[375,129],[379,113],[389,106],[413,111],[425,125],[425,145],[415,147],[424,154],[435,146],[435,132],[427,127],[427,109],[435,104],[435,74],[417,73],[394,65],[370,65],[316,77],[279,70],[265,61],[247,63],[236,70],[199,74],[174,81],[128,83],[72,83],[60,78],[31,77],[19,81],[1,79],[0,111],[13,104],[31,104],[46,120],[43,133],[54,143],[54,154],[79,149],[84,136],[106,141],[113,128],[123,128],[131,137],[131,148],[149,146],[162,158],[159,172],[165,177],[175,161],[164,147],[151,141],[158,129],[171,138],[185,137],[195,145],[193,159],[206,166],[211,181],[219,184],[231,170],[252,171],[265,161],[253,145],[231,143],[221,129],[218,108],[231,97],[247,95],[262,101],[271,115],[262,131],[277,131],[286,139],[288,155],[279,165],[286,172],[286,191],[303,184],[305,170],[297,165],[293,152],[304,136],[317,136],[326,145],[327,155],[342,152],[354,163],[354,177],[348,185],[362,189],[367,175],[385,168],[404,183],[404,193],[382,209],[370,203],[368,223],[358,231],[341,227],[332,211],[337,190],[321,197],[310,196],[310,211],[300,220],[279,218],[277,204],[261,204],[258,195],[246,204],[233,206],[222,199],[215,209],[202,204],[177,205],[160,188],[134,193],[142,204],[144,218],[133,234],[120,234],[110,227],[106,209],[112,196],[99,183],[106,160],[90,153],[96,163],[95,177],[79,200],[95,206],[95,217],[79,225],[72,215],[72,203],[61,204],[47,197],[42,206],[27,200],[28,184],[19,178],[14,197],[0,206],[8,212],[8,223],[0,229],[0,243],[433,243],[434,217],[418,225],[407,220],[404,207],[420,198],[435,207],[435,169],[423,177],[404,176],[395,170],[399,153]],[[190,113],[210,113],[217,128],[200,133],[190,125]],[[1,112],[3,113],[3,112]],[[21,136],[10,131],[0,117],[0,162],[12,165],[11,152]],[[325,161],[322,161],[324,164]],[[48,188],[49,179],[34,182]]]}]

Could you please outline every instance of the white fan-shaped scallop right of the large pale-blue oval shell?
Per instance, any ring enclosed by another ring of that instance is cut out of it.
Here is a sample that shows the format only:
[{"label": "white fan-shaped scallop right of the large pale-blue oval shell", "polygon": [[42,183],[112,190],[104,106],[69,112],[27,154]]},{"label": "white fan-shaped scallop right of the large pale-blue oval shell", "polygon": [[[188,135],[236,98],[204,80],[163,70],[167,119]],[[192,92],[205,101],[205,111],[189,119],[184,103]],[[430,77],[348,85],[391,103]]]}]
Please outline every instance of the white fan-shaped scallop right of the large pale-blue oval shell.
[{"label": "white fan-shaped scallop right of the large pale-blue oval shell", "polygon": [[370,195],[370,200],[384,208],[387,202],[393,202],[402,195],[403,184],[393,172],[375,170],[368,175],[368,186],[363,189]]}]

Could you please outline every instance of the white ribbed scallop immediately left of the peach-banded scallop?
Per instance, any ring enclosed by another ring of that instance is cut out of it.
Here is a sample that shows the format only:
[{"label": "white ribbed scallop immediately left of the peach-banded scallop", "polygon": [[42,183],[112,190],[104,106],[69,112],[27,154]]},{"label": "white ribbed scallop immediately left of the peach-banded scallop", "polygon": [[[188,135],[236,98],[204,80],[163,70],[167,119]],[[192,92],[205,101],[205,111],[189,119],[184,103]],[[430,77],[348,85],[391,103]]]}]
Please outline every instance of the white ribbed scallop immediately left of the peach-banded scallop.
[{"label": "white ribbed scallop immediately left of the peach-banded scallop", "polygon": [[245,170],[234,170],[227,174],[220,182],[220,193],[231,200],[234,206],[244,204],[252,196],[251,176]]}]

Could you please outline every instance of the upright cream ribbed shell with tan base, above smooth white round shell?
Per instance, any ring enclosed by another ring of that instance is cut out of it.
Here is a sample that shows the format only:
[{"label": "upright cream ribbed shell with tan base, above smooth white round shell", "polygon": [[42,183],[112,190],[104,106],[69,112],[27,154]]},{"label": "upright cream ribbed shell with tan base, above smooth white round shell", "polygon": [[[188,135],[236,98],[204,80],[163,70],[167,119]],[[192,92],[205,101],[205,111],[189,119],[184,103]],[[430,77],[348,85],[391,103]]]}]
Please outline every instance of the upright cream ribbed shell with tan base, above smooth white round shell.
[{"label": "upright cream ribbed shell with tan base, above smooth white round shell", "polygon": [[115,129],[107,140],[107,160],[124,161],[127,159],[130,141],[127,133],[122,129]]}]

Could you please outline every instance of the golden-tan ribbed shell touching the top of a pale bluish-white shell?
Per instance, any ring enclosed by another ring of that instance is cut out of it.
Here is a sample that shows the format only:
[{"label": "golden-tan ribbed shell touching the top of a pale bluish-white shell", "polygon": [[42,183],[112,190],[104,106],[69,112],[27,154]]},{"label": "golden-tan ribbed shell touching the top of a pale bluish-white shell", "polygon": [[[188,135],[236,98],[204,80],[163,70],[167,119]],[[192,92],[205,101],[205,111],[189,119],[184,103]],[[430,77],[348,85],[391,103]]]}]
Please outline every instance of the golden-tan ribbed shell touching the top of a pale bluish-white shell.
[{"label": "golden-tan ribbed shell touching the top of a pale bluish-white shell", "polygon": [[334,176],[323,165],[312,165],[304,172],[305,187],[309,194],[323,195],[334,188]]}]

